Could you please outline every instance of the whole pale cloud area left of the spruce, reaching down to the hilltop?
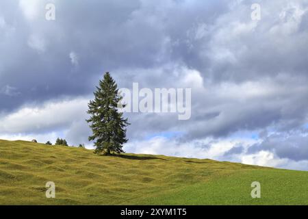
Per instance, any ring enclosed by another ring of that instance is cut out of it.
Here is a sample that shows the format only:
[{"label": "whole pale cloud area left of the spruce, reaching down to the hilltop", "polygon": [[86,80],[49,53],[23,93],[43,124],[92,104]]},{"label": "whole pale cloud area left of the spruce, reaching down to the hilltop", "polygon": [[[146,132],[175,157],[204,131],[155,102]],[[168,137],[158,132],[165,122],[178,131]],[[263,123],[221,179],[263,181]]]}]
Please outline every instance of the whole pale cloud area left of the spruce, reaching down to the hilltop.
[{"label": "whole pale cloud area left of the spruce, reaching down to the hilltop", "polygon": [[69,144],[88,142],[90,129],[86,124],[88,97],[51,100],[43,104],[21,107],[10,114],[0,114],[0,139],[32,140],[55,142],[56,138],[66,138]]}]

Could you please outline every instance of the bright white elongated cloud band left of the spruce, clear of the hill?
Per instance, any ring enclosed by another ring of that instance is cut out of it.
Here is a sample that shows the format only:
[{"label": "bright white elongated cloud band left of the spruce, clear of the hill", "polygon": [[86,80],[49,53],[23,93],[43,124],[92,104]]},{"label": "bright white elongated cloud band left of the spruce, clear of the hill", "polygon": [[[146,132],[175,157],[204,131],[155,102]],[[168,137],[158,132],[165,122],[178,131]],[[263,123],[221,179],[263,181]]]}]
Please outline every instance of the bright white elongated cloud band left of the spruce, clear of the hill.
[{"label": "bright white elongated cloud band left of the spruce, clear of the hill", "polygon": [[88,99],[76,98],[24,106],[1,116],[0,133],[39,133],[65,128],[86,117],[87,104]]}]

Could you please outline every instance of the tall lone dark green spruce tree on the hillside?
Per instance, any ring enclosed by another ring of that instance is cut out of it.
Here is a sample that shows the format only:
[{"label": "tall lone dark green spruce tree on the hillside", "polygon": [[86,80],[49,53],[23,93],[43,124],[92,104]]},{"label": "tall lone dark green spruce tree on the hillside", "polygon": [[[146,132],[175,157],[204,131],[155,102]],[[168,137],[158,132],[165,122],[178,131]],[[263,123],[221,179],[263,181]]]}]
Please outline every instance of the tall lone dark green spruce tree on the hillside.
[{"label": "tall lone dark green spruce tree on the hillside", "polygon": [[122,147],[127,142],[126,127],[129,123],[127,118],[123,118],[123,113],[118,112],[118,103],[123,96],[117,87],[110,73],[105,73],[94,92],[94,100],[88,103],[90,119],[87,122],[93,133],[89,141],[94,140],[95,153],[124,153]]}]

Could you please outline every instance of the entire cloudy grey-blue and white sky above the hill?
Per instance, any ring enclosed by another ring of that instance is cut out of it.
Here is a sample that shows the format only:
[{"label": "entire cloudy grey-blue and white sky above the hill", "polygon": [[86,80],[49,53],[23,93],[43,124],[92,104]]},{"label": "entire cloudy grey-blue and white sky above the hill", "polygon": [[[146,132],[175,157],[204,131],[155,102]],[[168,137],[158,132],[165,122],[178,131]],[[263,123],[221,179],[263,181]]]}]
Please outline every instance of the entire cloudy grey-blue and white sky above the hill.
[{"label": "entire cloudy grey-blue and white sky above the hill", "polygon": [[119,88],[192,88],[190,120],[126,114],[127,152],[308,170],[307,0],[0,1],[1,139],[90,149],[106,71]]}]

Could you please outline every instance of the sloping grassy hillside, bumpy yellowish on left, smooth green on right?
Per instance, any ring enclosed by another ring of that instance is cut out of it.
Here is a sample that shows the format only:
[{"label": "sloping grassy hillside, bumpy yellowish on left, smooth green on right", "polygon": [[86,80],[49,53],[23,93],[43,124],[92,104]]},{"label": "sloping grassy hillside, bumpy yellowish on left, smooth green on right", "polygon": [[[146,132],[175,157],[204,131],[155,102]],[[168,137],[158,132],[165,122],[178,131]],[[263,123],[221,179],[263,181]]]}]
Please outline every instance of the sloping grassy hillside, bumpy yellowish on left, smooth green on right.
[{"label": "sloping grassy hillside, bumpy yellowish on left, smooth green on right", "polygon": [[[253,181],[261,198],[251,198]],[[307,188],[308,172],[0,140],[1,205],[308,205]]]}]

